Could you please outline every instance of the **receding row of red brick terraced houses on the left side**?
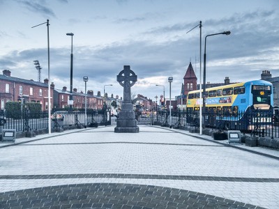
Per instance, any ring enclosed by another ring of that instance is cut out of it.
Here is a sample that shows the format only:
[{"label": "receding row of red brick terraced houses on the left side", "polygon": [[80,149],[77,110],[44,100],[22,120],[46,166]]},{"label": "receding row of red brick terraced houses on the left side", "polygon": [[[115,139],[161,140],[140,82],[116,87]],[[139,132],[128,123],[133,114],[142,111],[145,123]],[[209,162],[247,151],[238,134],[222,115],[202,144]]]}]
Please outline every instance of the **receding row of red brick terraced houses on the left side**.
[{"label": "receding row of red brick terraced houses on the left side", "polygon": [[[21,79],[10,76],[10,70],[3,70],[3,75],[0,75],[0,107],[5,109],[6,102],[38,102],[42,104],[42,110],[48,109],[48,79],[44,83],[34,82],[33,80]],[[102,109],[103,97],[98,91],[98,95],[93,95],[93,91],[87,91],[87,94],[77,92],[77,88],[73,89],[73,107],[82,109],[85,107],[85,95],[87,98],[87,108]],[[51,108],[68,107],[70,92],[64,86],[62,90],[54,89],[54,84],[50,85],[50,102]]]}]

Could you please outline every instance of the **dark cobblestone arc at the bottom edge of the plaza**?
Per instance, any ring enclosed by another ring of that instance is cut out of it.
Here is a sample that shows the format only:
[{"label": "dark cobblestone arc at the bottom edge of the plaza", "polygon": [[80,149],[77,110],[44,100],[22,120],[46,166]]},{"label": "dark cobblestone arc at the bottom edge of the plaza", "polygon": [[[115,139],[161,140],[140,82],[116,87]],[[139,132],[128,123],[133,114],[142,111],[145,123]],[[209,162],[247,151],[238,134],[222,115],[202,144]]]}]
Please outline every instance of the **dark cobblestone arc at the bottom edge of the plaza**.
[{"label": "dark cobblestone arc at the bottom edge of the plaza", "polygon": [[0,194],[1,208],[259,208],[183,189],[130,184],[81,184]]}]

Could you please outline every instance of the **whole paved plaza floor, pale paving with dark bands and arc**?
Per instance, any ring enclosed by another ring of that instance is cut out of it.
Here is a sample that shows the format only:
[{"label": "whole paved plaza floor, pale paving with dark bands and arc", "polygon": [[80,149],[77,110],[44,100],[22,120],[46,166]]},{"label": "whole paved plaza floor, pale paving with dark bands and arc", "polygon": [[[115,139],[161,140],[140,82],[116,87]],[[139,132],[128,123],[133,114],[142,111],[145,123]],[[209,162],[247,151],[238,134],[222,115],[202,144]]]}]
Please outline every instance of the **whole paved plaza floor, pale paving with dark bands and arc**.
[{"label": "whole paved plaza floor, pale paving with dark bands and arc", "polygon": [[0,144],[0,208],[279,208],[279,151],[114,125]]}]

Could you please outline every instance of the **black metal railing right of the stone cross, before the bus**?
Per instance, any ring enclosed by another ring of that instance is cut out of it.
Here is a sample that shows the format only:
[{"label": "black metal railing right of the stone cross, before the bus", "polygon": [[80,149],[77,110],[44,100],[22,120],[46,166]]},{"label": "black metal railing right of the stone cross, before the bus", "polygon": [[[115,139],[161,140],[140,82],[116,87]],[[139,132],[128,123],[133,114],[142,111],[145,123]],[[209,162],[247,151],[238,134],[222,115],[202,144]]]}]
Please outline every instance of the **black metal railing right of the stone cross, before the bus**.
[{"label": "black metal railing right of the stone cross, before the bus", "polygon": [[[149,113],[137,113],[137,123],[145,125],[169,126],[169,111],[156,110]],[[199,127],[199,111],[173,110],[172,126]],[[205,111],[202,113],[202,124],[218,130],[241,130],[241,132],[260,137],[279,138],[279,116],[271,111],[225,112]]]}]

